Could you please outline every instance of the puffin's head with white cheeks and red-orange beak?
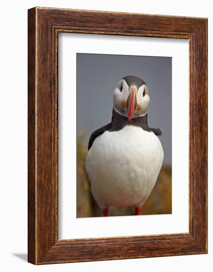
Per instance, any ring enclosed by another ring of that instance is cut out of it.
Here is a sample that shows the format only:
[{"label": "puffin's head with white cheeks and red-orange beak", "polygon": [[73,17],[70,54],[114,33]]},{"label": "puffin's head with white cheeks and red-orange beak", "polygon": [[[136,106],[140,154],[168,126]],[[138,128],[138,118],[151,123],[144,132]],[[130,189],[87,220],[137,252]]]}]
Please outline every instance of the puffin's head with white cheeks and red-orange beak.
[{"label": "puffin's head with white cheeks and red-orange beak", "polygon": [[114,110],[128,118],[147,114],[150,97],[145,82],[135,76],[126,76],[120,80],[113,94]]}]

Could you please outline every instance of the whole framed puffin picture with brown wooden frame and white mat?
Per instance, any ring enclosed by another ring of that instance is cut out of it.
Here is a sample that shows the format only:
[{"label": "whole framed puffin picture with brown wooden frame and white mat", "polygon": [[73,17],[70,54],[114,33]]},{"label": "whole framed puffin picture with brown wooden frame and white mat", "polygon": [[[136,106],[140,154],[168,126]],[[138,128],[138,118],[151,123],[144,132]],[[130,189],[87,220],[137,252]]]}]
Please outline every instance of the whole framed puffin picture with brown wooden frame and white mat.
[{"label": "whole framed puffin picture with brown wooden frame and white mat", "polygon": [[207,253],[207,19],[28,10],[28,261]]}]

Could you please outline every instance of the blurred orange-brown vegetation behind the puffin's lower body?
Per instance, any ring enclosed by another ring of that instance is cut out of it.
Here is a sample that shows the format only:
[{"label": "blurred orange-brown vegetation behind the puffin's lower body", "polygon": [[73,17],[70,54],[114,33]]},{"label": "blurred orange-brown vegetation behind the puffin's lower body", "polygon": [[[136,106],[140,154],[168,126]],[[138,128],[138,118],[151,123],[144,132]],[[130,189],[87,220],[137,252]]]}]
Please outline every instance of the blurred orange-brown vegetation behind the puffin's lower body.
[{"label": "blurred orange-brown vegetation behind the puffin's lower body", "polygon": [[[87,147],[84,133],[77,139],[77,217],[100,217],[102,211],[90,191],[85,173]],[[134,207],[110,207],[110,216],[134,215]],[[163,165],[158,180],[144,203],[141,215],[171,214],[171,166]]]}]

